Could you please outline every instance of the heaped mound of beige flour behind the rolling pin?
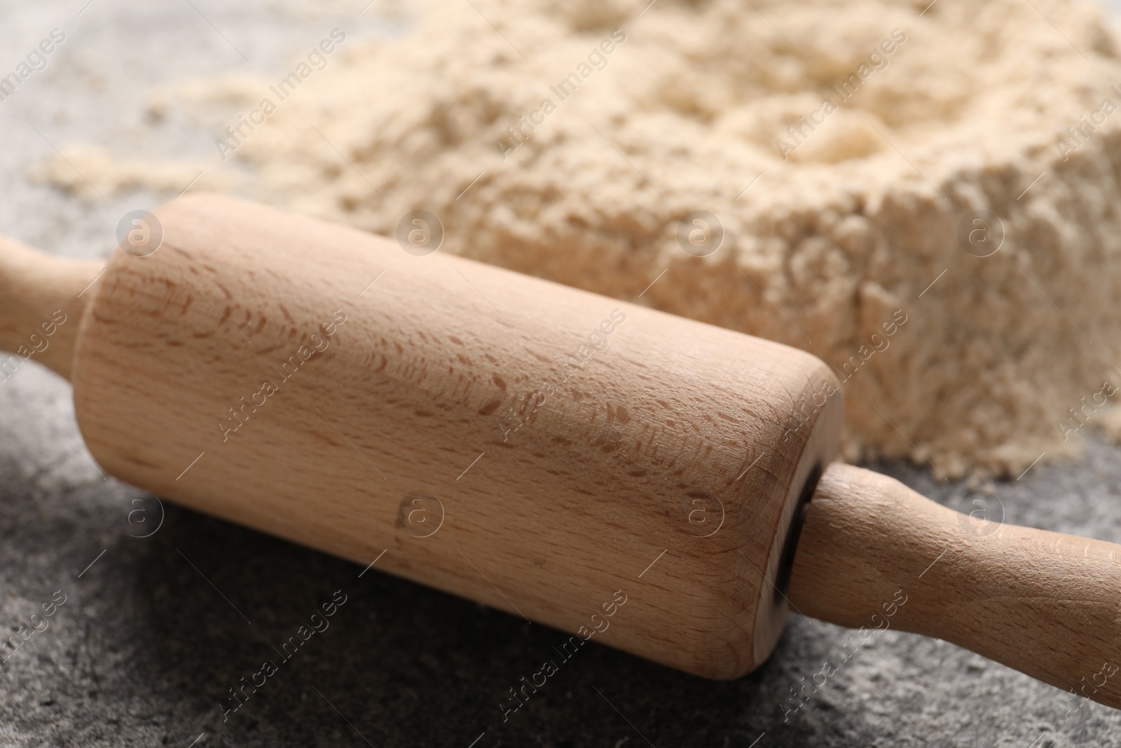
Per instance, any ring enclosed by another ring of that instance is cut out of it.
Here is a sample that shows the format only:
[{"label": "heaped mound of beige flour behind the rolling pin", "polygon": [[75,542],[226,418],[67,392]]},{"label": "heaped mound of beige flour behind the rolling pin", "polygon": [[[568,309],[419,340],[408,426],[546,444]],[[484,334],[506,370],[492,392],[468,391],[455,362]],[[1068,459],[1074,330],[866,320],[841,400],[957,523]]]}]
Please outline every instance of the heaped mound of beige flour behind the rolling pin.
[{"label": "heaped mound of beige flour behind the rolling pin", "polygon": [[927,2],[454,0],[284,101],[210,95],[242,92],[223,128],[276,107],[223,136],[257,196],[389,234],[424,209],[445,250],[804,348],[850,459],[1015,475],[1121,387],[1121,61],[1091,6]]}]

